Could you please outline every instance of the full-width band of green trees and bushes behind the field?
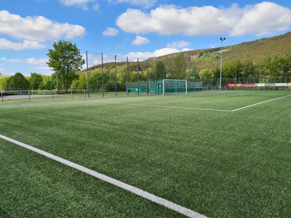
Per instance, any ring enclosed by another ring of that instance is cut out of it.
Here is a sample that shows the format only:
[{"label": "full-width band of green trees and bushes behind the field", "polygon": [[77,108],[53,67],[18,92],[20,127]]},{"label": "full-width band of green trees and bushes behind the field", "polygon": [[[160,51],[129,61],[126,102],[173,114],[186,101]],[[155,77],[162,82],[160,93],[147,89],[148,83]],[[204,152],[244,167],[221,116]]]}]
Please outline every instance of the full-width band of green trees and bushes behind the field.
[{"label": "full-width band of green trees and bushes behind the field", "polygon": [[[215,51],[215,49],[213,50]],[[87,74],[82,71],[85,63],[76,44],[70,41],[59,41],[49,49],[48,65],[54,71],[51,76],[31,73],[24,77],[16,73],[9,78],[0,78],[0,90],[54,90],[59,89],[87,89]],[[200,58],[203,57],[203,54]],[[210,55],[210,58],[216,58]],[[167,56],[149,59],[149,62],[118,62],[116,66],[116,86],[118,90],[126,89],[126,81],[137,82],[157,79],[190,79],[196,81],[203,79],[217,79],[220,77],[220,67],[199,68],[198,59],[190,59],[184,55]],[[148,64],[148,65],[147,65]],[[129,72],[129,73],[128,73]],[[172,72],[172,73],[171,73]],[[252,62],[236,59],[224,62],[223,78],[289,78],[291,77],[291,53],[288,55],[275,55],[267,57],[262,62]],[[105,90],[115,90],[115,63],[103,64],[103,86]],[[89,68],[89,89],[100,91],[102,89],[101,65]]]}]

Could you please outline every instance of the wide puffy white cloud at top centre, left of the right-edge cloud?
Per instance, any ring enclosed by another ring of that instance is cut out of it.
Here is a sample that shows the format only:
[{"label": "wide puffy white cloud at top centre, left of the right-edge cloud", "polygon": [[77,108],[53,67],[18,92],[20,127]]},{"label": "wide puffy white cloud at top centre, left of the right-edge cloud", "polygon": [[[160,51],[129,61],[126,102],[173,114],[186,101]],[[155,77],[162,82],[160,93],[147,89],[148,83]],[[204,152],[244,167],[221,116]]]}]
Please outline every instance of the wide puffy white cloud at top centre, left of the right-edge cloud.
[{"label": "wide puffy white cloud at top centre, left of the right-edge cloud", "polygon": [[229,9],[217,9],[213,6],[178,8],[175,5],[164,5],[150,13],[128,9],[117,17],[116,24],[123,31],[137,34],[213,34],[229,30],[235,23],[233,16],[238,11],[240,9],[236,5]]}]

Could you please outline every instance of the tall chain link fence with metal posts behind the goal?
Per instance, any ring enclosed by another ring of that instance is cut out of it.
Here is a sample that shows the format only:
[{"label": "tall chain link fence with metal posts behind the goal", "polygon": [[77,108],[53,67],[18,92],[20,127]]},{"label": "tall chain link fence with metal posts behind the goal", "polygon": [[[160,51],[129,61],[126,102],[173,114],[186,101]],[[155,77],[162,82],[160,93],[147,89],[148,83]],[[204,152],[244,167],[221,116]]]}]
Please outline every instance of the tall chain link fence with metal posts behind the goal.
[{"label": "tall chain link fence with metal posts behind the goal", "polygon": [[187,80],[188,92],[201,91],[203,81],[195,78],[191,62],[163,62],[87,51],[90,96],[161,94],[163,79]]}]

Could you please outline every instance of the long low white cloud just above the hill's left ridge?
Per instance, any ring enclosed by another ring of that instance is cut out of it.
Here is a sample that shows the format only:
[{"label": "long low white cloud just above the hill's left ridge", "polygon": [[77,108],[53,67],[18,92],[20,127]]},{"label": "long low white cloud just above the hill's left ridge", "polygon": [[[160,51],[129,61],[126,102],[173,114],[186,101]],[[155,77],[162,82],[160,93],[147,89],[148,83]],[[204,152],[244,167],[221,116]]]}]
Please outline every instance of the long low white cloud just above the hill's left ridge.
[{"label": "long low white cloud just above the hill's left ridge", "polygon": [[183,48],[181,50],[178,50],[177,48],[165,47],[165,48],[155,50],[153,52],[129,52],[127,56],[133,57],[133,58],[147,59],[147,58],[159,57],[162,55],[167,55],[167,54],[172,54],[172,53],[177,53],[180,51],[187,51],[187,50],[190,50],[190,49]]}]

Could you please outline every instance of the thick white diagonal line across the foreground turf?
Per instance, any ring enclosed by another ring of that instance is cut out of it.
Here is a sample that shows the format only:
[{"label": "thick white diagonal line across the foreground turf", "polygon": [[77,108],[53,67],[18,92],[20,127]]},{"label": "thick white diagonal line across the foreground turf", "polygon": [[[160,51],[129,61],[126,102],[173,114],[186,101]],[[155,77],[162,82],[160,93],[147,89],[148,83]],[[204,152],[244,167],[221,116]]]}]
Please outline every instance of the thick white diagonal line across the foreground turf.
[{"label": "thick white diagonal line across the foreground turf", "polygon": [[24,148],[26,148],[28,150],[33,151],[33,152],[36,152],[36,153],[38,153],[40,155],[49,157],[50,159],[53,159],[53,160],[55,160],[57,162],[65,164],[65,165],[67,165],[69,167],[72,167],[72,168],[74,168],[76,170],[85,172],[85,173],[87,173],[87,174],[89,174],[91,176],[94,176],[94,177],[96,177],[96,178],[98,178],[100,180],[103,180],[103,181],[105,181],[107,183],[110,183],[110,184],[112,184],[114,186],[117,186],[117,187],[120,187],[122,189],[125,189],[125,190],[127,190],[127,191],[129,191],[129,192],[131,192],[133,194],[139,195],[139,196],[141,196],[141,197],[143,197],[143,198],[145,198],[145,199],[147,199],[149,201],[158,203],[158,204],[160,204],[160,205],[162,205],[164,207],[167,207],[167,208],[169,208],[171,210],[174,210],[174,211],[176,211],[176,212],[178,212],[180,214],[183,214],[183,215],[185,215],[187,217],[191,217],[191,218],[207,218],[206,216],[204,216],[202,214],[199,214],[199,213],[197,213],[197,212],[195,212],[193,210],[190,210],[190,209],[188,209],[186,207],[180,206],[180,205],[178,205],[178,204],[176,204],[174,202],[170,202],[170,201],[168,201],[166,199],[160,198],[160,197],[158,197],[156,195],[153,195],[153,194],[151,194],[151,193],[149,193],[147,191],[144,191],[144,190],[142,190],[140,188],[130,186],[129,184],[126,184],[126,183],[123,183],[123,182],[121,182],[119,180],[113,179],[113,178],[111,178],[111,177],[109,177],[107,175],[101,174],[101,173],[99,173],[97,171],[90,170],[90,169],[88,169],[86,167],[83,167],[83,166],[81,166],[79,164],[76,164],[76,163],[73,163],[71,161],[68,161],[66,159],[63,159],[63,158],[61,158],[59,156],[52,155],[52,154],[50,154],[48,152],[45,152],[45,151],[42,151],[40,149],[34,148],[34,147],[32,147],[30,145],[27,145],[27,144],[24,144],[24,143],[22,143],[20,141],[16,141],[16,140],[10,139],[10,138],[8,138],[6,136],[3,136],[3,135],[0,135],[0,138],[3,139],[3,140],[10,141],[10,142],[12,142],[12,143],[14,143],[16,145],[24,147]]}]

